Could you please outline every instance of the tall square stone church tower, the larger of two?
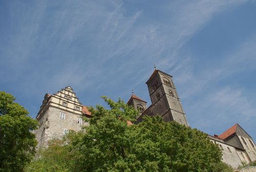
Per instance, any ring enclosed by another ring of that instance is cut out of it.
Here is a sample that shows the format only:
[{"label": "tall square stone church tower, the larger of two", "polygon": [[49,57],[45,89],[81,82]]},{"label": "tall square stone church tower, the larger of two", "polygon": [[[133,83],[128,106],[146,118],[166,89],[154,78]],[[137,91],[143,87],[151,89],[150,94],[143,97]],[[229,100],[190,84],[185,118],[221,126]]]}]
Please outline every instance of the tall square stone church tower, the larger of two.
[{"label": "tall square stone church tower, the larger of two", "polygon": [[160,115],[164,121],[177,121],[189,126],[172,76],[160,70],[155,70],[146,84],[150,92],[152,105],[138,118],[138,122],[141,121],[144,114],[149,116]]}]

